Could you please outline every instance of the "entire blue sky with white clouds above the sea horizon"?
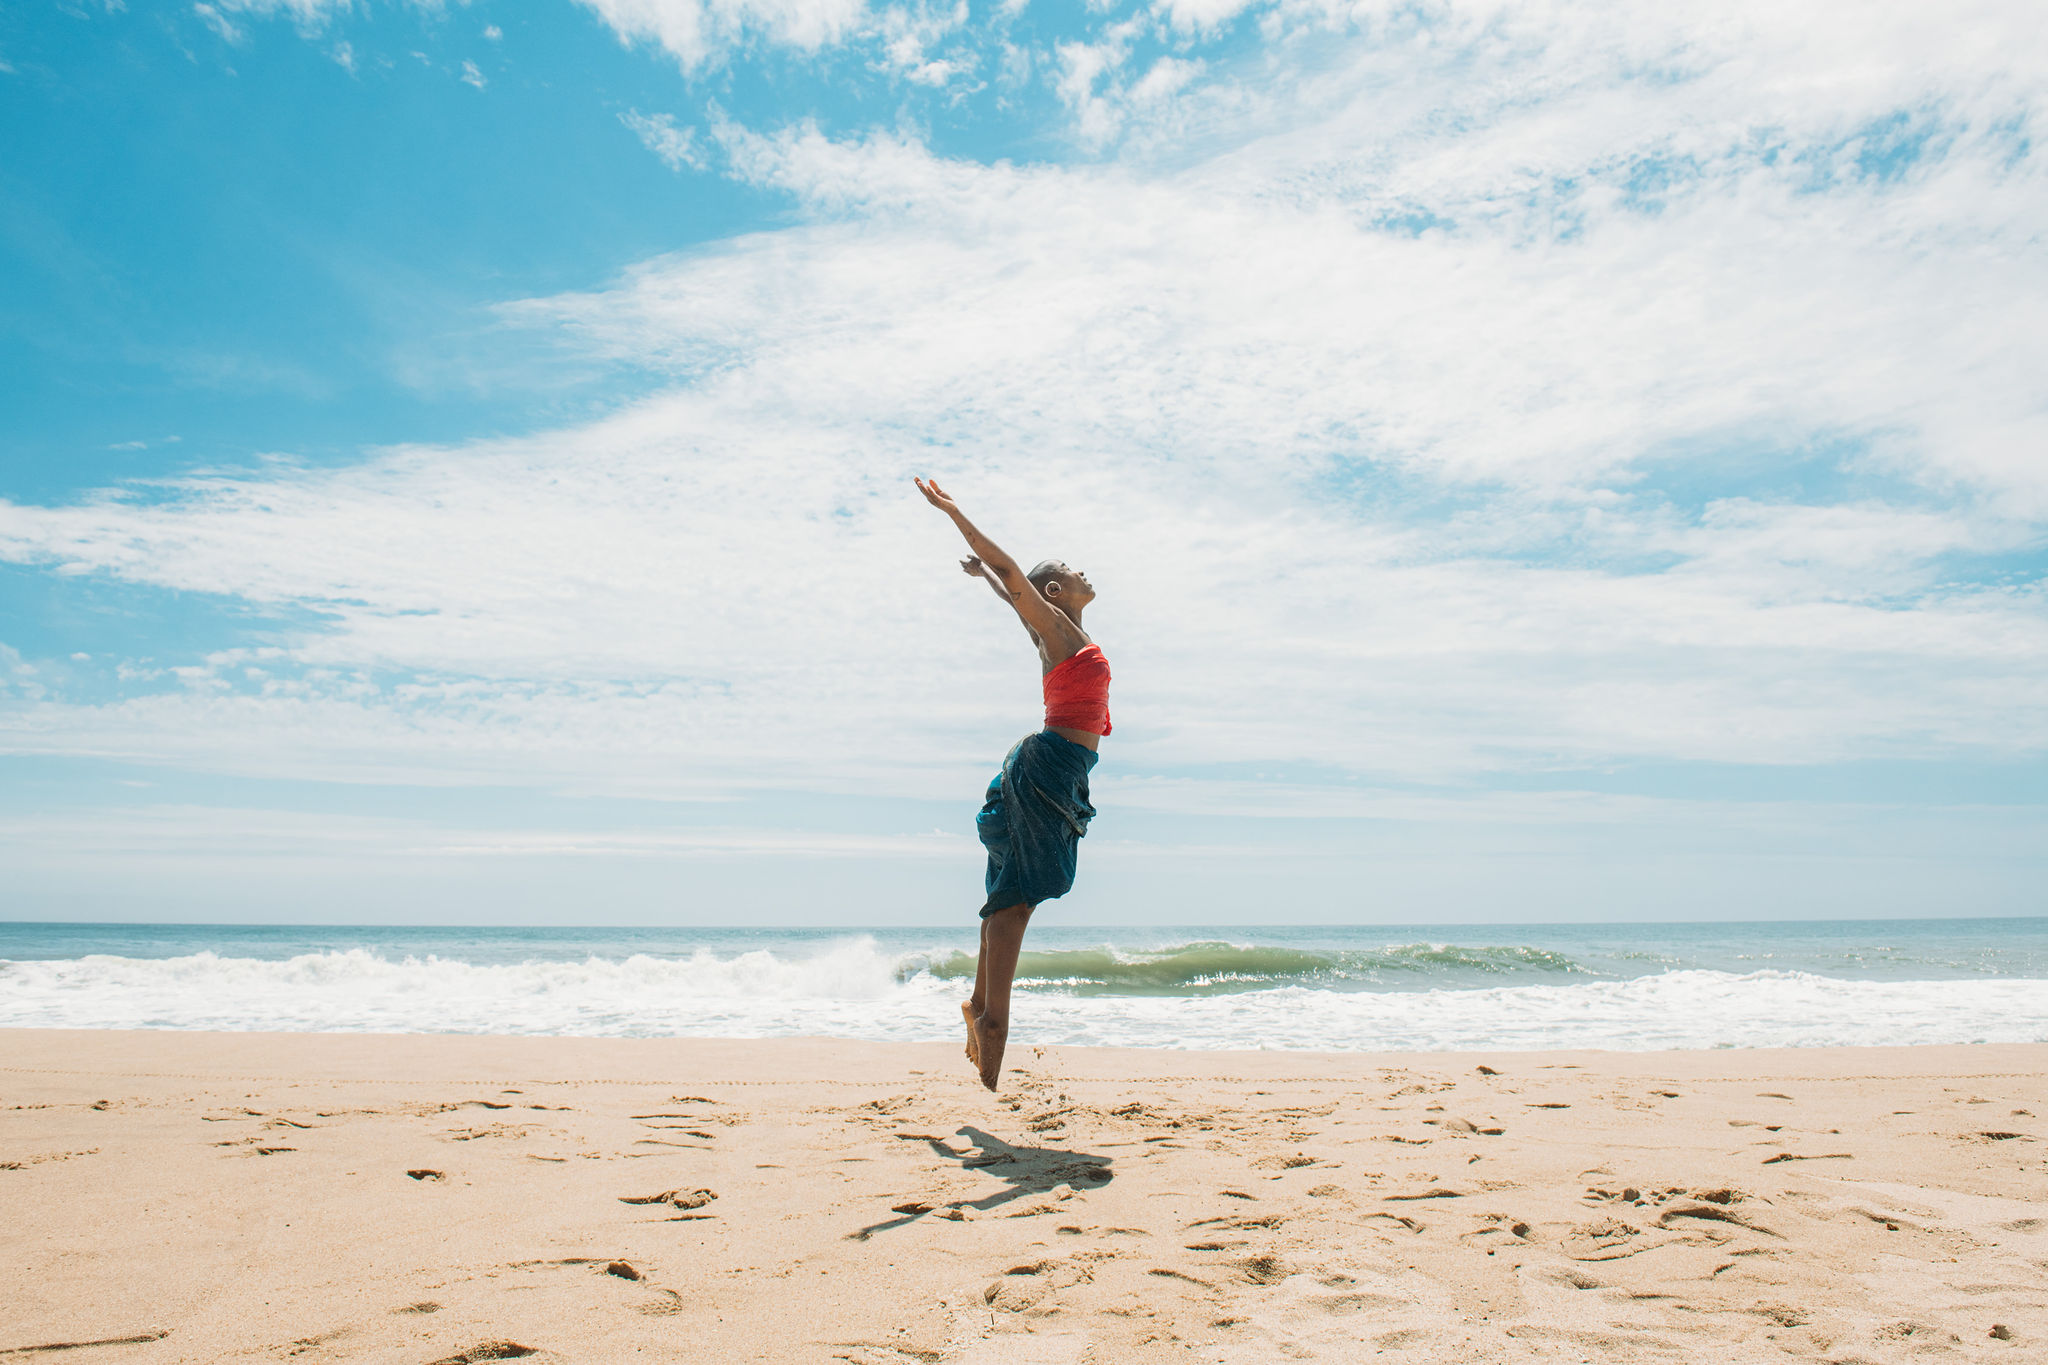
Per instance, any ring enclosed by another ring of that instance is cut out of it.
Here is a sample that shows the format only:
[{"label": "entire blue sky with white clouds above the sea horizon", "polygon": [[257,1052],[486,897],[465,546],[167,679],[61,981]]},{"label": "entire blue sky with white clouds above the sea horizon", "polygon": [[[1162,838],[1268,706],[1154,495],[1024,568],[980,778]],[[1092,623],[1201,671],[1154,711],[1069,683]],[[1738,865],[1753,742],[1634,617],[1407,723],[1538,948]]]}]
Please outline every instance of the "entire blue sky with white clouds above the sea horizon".
[{"label": "entire blue sky with white clouds above the sea horizon", "polygon": [[2048,913],[2019,0],[0,10],[0,917]]}]

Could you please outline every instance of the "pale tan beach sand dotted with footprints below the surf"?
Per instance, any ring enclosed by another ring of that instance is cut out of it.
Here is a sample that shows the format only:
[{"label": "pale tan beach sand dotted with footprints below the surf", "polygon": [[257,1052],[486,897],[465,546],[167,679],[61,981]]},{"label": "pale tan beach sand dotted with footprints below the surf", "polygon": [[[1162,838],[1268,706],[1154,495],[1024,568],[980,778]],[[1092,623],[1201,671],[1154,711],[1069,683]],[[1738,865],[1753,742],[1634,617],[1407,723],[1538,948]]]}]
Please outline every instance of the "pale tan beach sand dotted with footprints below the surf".
[{"label": "pale tan beach sand dotted with footprints below the surf", "polygon": [[0,1031],[0,1359],[2048,1361],[2048,1046],[1012,1052]]}]

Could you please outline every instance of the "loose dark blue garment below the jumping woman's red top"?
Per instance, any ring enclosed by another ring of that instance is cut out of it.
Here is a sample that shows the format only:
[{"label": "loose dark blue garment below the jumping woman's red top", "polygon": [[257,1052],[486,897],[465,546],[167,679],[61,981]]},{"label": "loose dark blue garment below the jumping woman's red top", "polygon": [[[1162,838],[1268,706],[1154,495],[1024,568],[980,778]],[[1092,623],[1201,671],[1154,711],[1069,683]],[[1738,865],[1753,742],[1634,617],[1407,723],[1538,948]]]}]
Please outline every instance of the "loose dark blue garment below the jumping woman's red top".
[{"label": "loose dark blue garment below the jumping woman's red top", "polygon": [[1026,735],[1010,749],[975,817],[975,833],[989,851],[983,919],[1073,890],[1081,835],[1096,819],[1087,804],[1096,757],[1094,749],[1053,731]]}]

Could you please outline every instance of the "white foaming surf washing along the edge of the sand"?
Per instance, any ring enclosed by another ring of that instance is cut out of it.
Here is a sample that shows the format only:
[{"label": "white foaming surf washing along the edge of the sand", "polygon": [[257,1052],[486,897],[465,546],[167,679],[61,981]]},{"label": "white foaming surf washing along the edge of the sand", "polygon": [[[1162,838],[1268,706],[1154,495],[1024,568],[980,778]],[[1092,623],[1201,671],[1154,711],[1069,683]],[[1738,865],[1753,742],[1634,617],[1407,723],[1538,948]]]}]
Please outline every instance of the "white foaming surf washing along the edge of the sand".
[{"label": "white foaming surf washing along the edge of the sand", "polygon": [[[88,956],[0,964],[4,1027],[950,1040],[965,982],[870,939],[803,956],[473,964],[369,950],[283,960]],[[909,970],[907,970],[909,964]],[[1032,1042],[1145,1048],[1548,1050],[2048,1042],[2048,982],[1677,970],[1489,988],[1022,993]]]}]

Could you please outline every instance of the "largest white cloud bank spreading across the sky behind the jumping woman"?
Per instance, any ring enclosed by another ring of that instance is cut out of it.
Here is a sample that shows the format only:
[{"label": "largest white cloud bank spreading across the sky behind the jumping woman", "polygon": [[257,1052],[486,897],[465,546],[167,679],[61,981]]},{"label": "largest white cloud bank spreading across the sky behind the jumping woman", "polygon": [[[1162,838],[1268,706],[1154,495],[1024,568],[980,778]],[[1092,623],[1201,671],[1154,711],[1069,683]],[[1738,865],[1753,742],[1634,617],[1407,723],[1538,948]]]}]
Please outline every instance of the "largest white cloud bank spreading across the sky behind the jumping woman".
[{"label": "largest white cloud bank spreading across the sky behind the jumping woman", "polygon": [[[1915,16],[1829,65],[1778,12],[1628,14],[1444,20],[1264,84],[1188,59],[1169,117],[1151,74],[1118,88],[1102,166],[717,125],[795,227],[506,309],[672,391],[0,505],[0,557],[332,622],[115,704],[35,681],[6,743],[973,790],[1034,677],[928,471],[1102,583],[1126,774],[2048,749],[2042,585],[1974,569],[2048,524],[2048,186],[2001,131],[2042,78]],[[1130,63],[1090,51],[1065,72],[1104,100]],[[1942,153],[1874,172],[1901,108]]]}]

